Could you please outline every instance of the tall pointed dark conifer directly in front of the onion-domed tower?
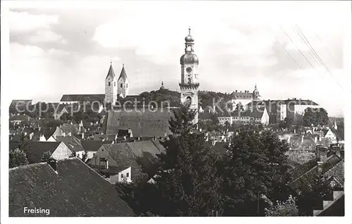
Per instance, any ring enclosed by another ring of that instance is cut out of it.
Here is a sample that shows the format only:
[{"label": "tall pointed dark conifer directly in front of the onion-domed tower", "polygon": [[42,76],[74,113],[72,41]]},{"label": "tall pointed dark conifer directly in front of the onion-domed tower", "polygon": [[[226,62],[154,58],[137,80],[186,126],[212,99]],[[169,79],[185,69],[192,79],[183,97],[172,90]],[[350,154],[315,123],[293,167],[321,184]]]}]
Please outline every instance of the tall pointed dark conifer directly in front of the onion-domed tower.
[{"label": "tall pointed dark conifer directly in front of the onion-domed tower", "polygon": [[192,117],[180,110],[177,119],[170,120],[174,135],[165,143],[154,183],[158,203],[152,212],[159,216],[209,216],[211,210],[221,210],[217,157],[210,153],[205,135],[189,128]]}]

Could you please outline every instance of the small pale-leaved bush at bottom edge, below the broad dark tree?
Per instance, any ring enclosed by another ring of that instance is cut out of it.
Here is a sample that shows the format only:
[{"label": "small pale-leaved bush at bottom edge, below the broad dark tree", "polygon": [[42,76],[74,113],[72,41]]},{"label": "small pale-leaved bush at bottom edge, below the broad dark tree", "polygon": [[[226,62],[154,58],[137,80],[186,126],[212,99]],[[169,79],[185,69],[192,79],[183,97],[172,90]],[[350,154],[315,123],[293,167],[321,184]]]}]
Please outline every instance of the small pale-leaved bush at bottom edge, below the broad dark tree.
[{"label": "small pale-leaved bush at bottom edge, below the broad dark tree", "polygon": [[290,195],[287,201],[277,201],[275,206],[270,206],[268,209],[265,208],[265,216],[298,216],[296,199]]}]

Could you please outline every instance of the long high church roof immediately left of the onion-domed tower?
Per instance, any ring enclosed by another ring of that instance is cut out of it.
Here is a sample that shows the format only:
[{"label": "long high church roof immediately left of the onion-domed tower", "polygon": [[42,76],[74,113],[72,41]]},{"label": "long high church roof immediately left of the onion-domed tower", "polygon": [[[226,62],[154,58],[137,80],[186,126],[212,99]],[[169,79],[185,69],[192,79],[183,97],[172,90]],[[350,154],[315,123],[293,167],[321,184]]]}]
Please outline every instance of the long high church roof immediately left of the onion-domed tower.
[{"label": "long high church roof immediately left of the onion-domed tower", "polygon": [[115,135],[118,130],[132,130],[133,137],[165,137],[170,135],[169,119],[171,112],[160,110],[109,111],[106,122],[106,134]]}]

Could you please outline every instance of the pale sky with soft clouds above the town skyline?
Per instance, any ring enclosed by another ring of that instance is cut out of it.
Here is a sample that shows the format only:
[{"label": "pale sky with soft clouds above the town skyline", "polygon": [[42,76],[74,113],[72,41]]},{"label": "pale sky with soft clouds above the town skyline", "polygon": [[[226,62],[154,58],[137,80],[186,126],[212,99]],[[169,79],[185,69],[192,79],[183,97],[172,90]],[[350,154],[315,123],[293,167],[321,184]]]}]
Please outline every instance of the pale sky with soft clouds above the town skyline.
[{"label": "pale sky with soft clouds above the town skyline", "polygon": [[103,94],[111,61],[116,75],[125,65],[130,94],[156,90],[162,81],[179,90],[180,56],[191,27],[200,90],[252,92],[257,84],[262,99],[310,99],[329,116],[343,115],[349,75],[344,73],[344,11],[349,9],[339,2],[56,6],[15,7],[8,14],[11,80],[19,89],[13,99]]}]

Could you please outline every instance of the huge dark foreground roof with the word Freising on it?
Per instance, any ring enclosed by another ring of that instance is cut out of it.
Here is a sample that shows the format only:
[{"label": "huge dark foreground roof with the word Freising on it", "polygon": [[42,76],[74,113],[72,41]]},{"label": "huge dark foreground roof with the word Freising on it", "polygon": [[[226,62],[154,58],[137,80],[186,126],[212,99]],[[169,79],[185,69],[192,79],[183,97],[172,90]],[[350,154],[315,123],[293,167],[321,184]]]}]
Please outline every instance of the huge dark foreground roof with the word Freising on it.
[{"label": "huge dark foreground roof with the word Freising on it", "polygon": [[49,209],[52,217],[133,216],[115,187],[78,158],[58,161],[57,174],[47,163],[9,171],[9,216],[46,216],[23,213],[23,208]]}]

